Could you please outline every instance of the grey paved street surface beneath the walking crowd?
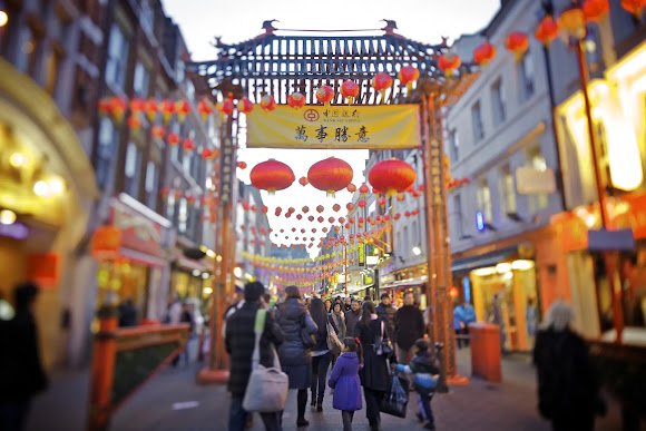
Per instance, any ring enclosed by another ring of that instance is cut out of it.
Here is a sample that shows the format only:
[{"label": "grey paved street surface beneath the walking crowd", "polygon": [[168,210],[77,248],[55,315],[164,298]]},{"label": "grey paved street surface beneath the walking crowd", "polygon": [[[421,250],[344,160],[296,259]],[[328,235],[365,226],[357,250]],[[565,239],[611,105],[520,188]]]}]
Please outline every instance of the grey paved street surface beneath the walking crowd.
[{"label": "grey paved street surface beneath the walking crowd", "polygon": [[[459,354],[459,370],[470,374],[469,352]],[[111,430],[226,430],[228,395],[222,386],[198,386],[194,383],[197,364],[169,369],[129,399],[115,415]],[[468,386],[452,388],[437,395],[433,411],[438,430],[548,430],[536,411],[535,374],[526,356],[503,362],[502,384],[473,380]],[[87,411],[87,373],[67,374],[37,400],[28,430],[81,430]],[[290,394],[284,415],[285,430],[295,429],[295,394]],[[174,410],[175,404],[175,410]],[[324,412],[307,412],[309,431],[341,430],[341,414],[332,409],[326,395]],[[414,419],[414,403],[409,404],[407,419],[383,415],[383,430],[421,429]],[[358,412],[354,429],[368,430],[364,411]],[[262,430],[260,418],[253,430]],[[618,411],[598,421],[597,430],[619,429]]]}]

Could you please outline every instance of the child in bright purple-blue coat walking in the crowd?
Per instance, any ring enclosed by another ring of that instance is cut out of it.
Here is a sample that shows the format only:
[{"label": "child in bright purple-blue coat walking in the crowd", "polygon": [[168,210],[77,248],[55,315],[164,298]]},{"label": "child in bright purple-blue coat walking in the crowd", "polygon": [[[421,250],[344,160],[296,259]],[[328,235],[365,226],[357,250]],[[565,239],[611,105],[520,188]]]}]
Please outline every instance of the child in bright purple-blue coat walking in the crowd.
[{"label": "child in bright purple-blue coat walking in the crowd", "polygon": [[361,349],[358,349],[359,343],[354,339],[346,337],[343,344],[343,353],[336,360],[327,384],[334,390],[332,406],[341,410],[343,431],[352,431],[354,412],[362,409],[359,380]]}]

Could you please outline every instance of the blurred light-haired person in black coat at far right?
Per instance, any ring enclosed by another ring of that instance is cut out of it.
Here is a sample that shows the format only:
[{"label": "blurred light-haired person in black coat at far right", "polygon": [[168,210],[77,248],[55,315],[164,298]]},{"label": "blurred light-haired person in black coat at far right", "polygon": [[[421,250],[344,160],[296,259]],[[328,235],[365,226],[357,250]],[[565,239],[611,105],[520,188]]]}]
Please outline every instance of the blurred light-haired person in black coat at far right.
[{"label": "blurred light-haired person in black coat at far right", "polygon": [[584,339],[570,329],[572,311],[562,301],[549,308],[536,337],[538,409],[555,431],[589,431],[603,403],[599,383]]}]

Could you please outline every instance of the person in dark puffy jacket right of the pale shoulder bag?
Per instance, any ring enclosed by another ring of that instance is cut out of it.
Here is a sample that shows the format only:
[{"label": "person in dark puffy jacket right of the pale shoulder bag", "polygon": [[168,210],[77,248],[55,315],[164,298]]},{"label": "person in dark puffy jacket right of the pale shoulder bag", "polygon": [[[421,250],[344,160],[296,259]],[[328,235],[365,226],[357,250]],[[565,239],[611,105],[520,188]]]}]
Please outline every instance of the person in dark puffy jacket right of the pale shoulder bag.
[{"label": "person in dark puffy jacket right of the pale shoulder bag", "polygon": [[278,354],[283,371],[290,376],[290,389],[298,390],[297,395],[297,427],[307,427],[305,419],[307,405],[307,389],[312,384],[312,356],[303,343],[303,330],[315,334],[319,327],[301,302],[301,292],[296,286],[285,288],[286,300],[276,308],[276,322],[283,330],[285,342]]}]

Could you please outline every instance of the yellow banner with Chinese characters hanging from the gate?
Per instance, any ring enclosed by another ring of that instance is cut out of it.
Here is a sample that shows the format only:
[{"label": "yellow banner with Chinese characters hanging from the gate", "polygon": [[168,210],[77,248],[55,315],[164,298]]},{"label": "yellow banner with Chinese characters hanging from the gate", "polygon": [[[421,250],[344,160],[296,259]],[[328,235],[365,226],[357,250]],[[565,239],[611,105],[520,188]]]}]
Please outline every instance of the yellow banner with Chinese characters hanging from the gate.
[{"label": "yellow banner with Chinese characters hanging from the gate", "polygon": [[413,148],[420,145],[418,105],[278,106],[247,115],[249,148]]}]

